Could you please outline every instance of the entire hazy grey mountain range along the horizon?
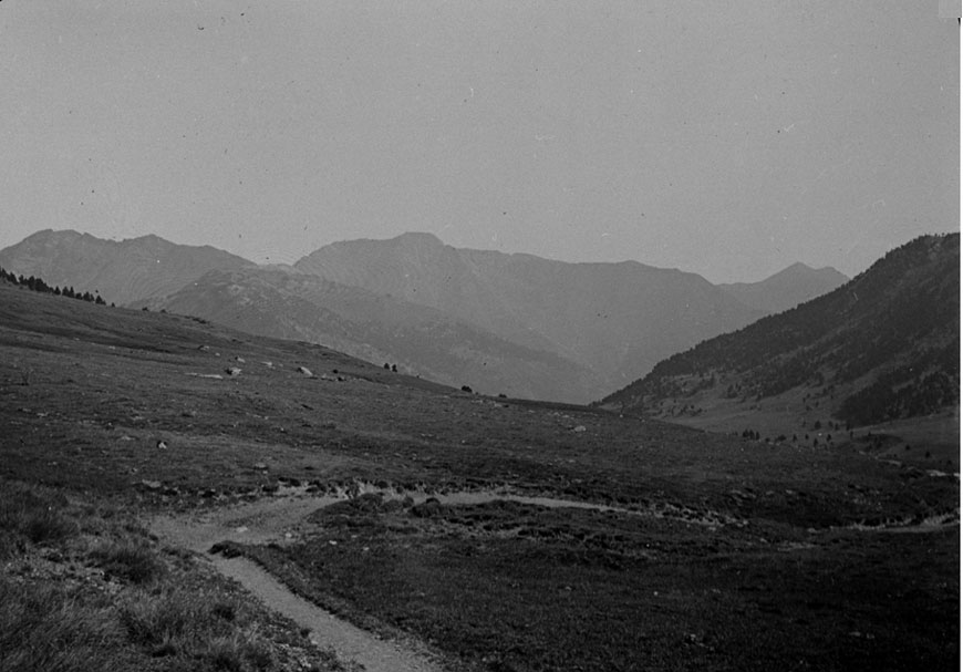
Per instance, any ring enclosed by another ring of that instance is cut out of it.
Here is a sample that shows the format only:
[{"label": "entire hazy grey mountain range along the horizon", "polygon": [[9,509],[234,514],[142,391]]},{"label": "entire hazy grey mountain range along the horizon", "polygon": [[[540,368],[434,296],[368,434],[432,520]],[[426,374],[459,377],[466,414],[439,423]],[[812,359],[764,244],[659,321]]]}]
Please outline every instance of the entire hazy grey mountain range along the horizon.
[{"label": "entire hazy grey mountain range along the horizon", "polygon": [[714,286],[634,261],[457,249],[431,234],[336,242],[293,266],[259,267],[156,236],[117,242],[44,230],[0,250],[0,267],[110,302],[331,345],[445,384],[577,403],[846,280],[794,265],[762,282]]}]

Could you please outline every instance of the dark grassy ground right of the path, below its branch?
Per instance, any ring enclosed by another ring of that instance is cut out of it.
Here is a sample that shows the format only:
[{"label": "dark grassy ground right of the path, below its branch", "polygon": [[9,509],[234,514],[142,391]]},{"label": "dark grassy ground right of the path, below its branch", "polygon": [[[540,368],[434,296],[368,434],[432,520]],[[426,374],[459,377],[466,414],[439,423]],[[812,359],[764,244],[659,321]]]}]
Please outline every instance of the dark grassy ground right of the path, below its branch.
[{"label": "dark grassy ground right of the path, below its branch", "polygon": [[314,523],[304,544],[237,550],[485,670],[941,669],[955,647],[953,530],[924,544],[763,521],[708,531],[370,496]]}]

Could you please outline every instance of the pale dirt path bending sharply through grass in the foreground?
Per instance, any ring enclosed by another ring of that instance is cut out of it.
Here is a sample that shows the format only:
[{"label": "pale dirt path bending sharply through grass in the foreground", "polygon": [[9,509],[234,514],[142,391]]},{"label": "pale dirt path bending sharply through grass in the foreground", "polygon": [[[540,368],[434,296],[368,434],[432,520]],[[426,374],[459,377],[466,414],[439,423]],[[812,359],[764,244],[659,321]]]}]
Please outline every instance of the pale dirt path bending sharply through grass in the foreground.
[{"label": "pale dirt path bending sharply through grass in the foreground", "polygon": [[268,607],[311,631],[311,639],[334,650],[342,662],[369,672],[442,672],[426,651],[375,637],[291,592],[258,565],[245,558],[207,555],[221,540],[245,544],[283,541],[289,529],[336,497],[279,497],[204,514],[162,516],[152,531],[168,544],[205,555],[222,575],[237,580]]}]

